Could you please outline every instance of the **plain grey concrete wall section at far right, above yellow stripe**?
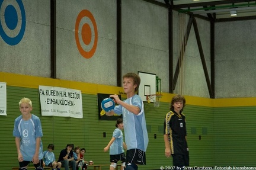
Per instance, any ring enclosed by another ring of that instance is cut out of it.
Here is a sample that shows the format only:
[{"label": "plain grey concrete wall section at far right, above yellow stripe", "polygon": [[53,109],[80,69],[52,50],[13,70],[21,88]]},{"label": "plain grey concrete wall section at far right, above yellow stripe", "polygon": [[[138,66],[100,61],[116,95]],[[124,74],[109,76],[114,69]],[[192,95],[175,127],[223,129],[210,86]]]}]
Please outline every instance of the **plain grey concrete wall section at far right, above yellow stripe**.
[{"label": "plain grey concrete wall section at far right, above yellow stripe", "polygon": [[216,23],[216,98],[256,96],[255,20]]}]

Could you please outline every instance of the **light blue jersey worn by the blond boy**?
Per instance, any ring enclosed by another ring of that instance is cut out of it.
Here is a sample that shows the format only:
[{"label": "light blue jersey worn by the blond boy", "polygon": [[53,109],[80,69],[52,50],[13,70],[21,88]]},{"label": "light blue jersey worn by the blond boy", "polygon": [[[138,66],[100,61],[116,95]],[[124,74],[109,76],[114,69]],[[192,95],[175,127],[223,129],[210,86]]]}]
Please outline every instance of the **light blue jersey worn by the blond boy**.
[{"label": "light blue jersey worn by the blond boy", "polygon": [[[22,115],[14,121],[14,137],[20,137],[20,150],[24,161],[32,161],[36,153],[36,138],[43,136],[39,117],[32,114],[30,120],[23,120]],[[43,145],[40,143],[39,160],[43,159]]]}]

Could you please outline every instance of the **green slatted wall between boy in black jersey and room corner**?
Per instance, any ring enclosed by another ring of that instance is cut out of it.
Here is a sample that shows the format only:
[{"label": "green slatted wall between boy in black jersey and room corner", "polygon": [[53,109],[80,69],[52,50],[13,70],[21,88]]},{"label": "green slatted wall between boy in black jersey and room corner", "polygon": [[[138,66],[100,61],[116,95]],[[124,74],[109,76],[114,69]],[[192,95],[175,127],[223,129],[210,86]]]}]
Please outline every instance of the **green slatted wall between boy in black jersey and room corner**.
[{"label": "green slatted wall between boy in black jersey and room corner", "polygon": [[213,166],[213,109],[186,105],[183,112],[187,123],[190,166]]}]

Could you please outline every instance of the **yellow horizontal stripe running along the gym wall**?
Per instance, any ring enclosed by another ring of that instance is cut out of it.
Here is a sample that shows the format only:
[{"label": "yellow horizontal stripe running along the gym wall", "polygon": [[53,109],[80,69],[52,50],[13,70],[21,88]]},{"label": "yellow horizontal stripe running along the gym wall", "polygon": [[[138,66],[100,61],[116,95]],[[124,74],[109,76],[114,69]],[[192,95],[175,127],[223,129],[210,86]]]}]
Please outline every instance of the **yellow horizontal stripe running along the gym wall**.
[{"label": "yellow horizontal stripe running along the gym wall", "polygon": [[[0,72],[0,81],[6,82],[8,86],[20,86],[26,88],[38,88],[39,85],[59,86],[63,88],[79,89],[84,94],[120,94],[125,98],[122,87],[91,84],[86,82],[67,81],[62,79],[43,78],[37,76],[18,75],[14,73]],[[174,94],[162,93],[161,102],[171,102]],[[200,105],[205,107],[241,107],[255,106],[256,98],[221,98],[210,99],[202,97],[186,96],[186,104]]]}]

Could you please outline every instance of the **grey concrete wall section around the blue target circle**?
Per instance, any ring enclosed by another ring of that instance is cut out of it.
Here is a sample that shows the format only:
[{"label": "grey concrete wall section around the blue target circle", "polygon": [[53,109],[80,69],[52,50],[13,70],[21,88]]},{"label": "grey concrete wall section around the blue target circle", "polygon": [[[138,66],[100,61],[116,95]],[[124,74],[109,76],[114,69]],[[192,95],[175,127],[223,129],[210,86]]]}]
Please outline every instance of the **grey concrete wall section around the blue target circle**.
[{"label": "grey concrete wall section around the blue target circle", "polygon": [[[49,77],[50,1],[20,2],[3,1],[0,7],[0,71]],[[8,27],[8,22],[17,24]]]}]

